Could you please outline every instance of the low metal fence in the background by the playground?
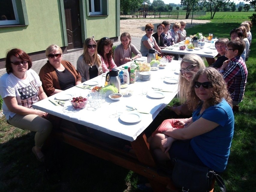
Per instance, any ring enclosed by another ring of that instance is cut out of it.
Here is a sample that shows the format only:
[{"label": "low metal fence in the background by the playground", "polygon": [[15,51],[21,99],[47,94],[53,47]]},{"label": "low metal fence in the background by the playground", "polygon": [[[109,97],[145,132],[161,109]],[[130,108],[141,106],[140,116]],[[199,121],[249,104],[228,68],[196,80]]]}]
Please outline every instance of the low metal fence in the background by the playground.
[{"label": "low metal fence in the background by the playground", "polygon": [[[179,13],[180,12],[159,12],[159,11],[137,11],[137,12],[128,12],[127,15],[124,15],[120,13],[121,18],[166,18],[166,19],[179,19]],[[181,15],[183,15],[186,12],[181,12]],[[206,15],[205,11],[194,11],[193,18],[200,17]],[[192,17],[192,12],[190,12],[189,19]],[[184,19],[182,17],[182,19]]]}]

